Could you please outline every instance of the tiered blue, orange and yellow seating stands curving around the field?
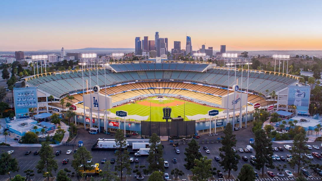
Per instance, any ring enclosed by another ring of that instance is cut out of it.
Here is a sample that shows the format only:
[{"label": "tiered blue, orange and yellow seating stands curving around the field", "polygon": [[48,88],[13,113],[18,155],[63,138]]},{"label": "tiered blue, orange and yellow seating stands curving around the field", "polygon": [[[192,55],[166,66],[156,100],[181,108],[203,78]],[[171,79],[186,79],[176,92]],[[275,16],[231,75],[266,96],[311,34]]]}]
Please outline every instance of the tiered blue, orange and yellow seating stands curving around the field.
[{"label": "tiered blue, orange and yellow seating stands curving around the field", "polygon": [[[221,97],[227,95],[227,87],[230,88],[229,93],[231,93],[233,92],[232,86],[237,84],[243,92],[246,92],[248,87],[249,106],[260,103],[262,109],[267,109],[268,106],[273,105],[273,100],[268,99],[272,91],[277,94],[287,89],[289,85],[298,83],[298,79],[297,76],[286,73],[258,70],[248,72],[242,69],[217,67],[207,62],[175,61],[164,63],[113,62],[99,68],[48,72],[24,78],[26,84],[54,96],[56,100],[52,103],[47,102],[47,110],[48,107],[53,107],[60,112],[66,110],[67,108],[62,106],[58,100],[65,99],[67,102],[66,96],[73,95],[75,99],[71,102],[78,107],[76,111],[80,113],[80,116],[83,116],[81,114],[83,112],[83,89],[89,93],[90,86],[95,85],[100,87],[101,94],[112,97],[113,107],[128,104],[133,100],[166,96],[196,102],[215,109],[221,108]],[[262,93],[263,97],[258,96],[258,93]],[[85,107],[85,109],[88,108]],[[86,114],[88,115],[89,112]],[[249,119],[252,118],[247,118]],[[79,119],[79,122],[83,123],[83,120]],[[141,120],[146,120],[146,118],[141,118]],[[226,123],[221,126],[225,125]]]}]

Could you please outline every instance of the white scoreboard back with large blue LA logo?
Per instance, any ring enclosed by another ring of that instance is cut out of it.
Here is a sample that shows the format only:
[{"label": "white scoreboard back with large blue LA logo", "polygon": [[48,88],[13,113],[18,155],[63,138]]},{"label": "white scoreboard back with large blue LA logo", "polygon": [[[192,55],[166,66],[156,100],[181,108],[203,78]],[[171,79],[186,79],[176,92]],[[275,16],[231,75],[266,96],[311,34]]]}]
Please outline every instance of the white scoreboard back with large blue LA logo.
[{"label": "white scoreboard back with large blue LA logo", "polygon": [[91,108],[92,110],[112,109],[112,97],[97,93],[85,94],[84,104],[86,107]]}]

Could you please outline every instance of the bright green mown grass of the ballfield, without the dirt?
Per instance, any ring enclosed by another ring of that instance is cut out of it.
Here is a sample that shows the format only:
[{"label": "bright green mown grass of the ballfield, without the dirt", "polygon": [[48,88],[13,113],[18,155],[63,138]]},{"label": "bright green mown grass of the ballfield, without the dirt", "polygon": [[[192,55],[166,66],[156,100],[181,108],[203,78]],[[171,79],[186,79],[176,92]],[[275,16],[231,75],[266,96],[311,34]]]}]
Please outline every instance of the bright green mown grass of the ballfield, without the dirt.
[{"label": "bright green mown grass of the ballfield, without the dirt", "polygon": [[[151,103],[156,103],[159,104],[159,100],[143,100],[143,101],[151,101]],[[183,101],[183,100],[163,100],[162,104],[167,104],[171,103],[174,101]],[[112,113],[116,113],[118,110],[124,110],[128,112],[128,115],[139,115],[139,116],[149,116],[147,121],[150,121],[150,118],[152,117],[152,121],[166,121],[162,119],[163,117],[163,111],[162,109],[164,107],[158,107],[158,106],[145,106],[145,105],[140,105],[137,103],[132,103],[132,104],[125,104],[119,107],[116,107],[114,109],[111,109]],[[171,117],[175,118],[178,116],[184,117],[184,114],[186,116],[193,116],[196,114],[207,114],[208,110],[219,110],[222,111],[222,109],[219,108],[213,108],[213,107],[208,107],[208,106],[203,106],[200,104],[196,104],[194,102],[185,102],[184,104],[178,105],[178,106],[169,106],[172,108],[171,111]],[[151,117],[150,117],[150,110],[151,110]],[[185,117],[185,120],[189,120],[188,118]]]}]

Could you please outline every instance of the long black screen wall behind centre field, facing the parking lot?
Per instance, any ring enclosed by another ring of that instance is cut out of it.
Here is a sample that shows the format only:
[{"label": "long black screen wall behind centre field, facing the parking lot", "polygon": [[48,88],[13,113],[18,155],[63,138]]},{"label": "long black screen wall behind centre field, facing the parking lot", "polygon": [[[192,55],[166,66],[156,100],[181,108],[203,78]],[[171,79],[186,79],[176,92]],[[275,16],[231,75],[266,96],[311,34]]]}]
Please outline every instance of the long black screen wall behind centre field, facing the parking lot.
[{"label": "long black screen wall behind centre field, facing the parking lot", "polygon": [[196,121],[141,121],[141,134],[158,136],[194,135]]}]

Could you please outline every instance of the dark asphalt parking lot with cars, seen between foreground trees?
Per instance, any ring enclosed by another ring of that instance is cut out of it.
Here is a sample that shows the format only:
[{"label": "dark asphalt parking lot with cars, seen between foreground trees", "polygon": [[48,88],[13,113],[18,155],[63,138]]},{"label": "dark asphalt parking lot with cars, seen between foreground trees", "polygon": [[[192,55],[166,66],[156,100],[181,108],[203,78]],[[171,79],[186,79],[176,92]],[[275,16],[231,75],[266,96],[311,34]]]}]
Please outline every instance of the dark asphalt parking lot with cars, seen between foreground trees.
[{"label": "dark asphalt parking lot with cars, seen between foreground trees", "polygon": [[[249,145],[249,139],[250,138],[253,138],[253,134],[251,133],[250,131],[250,128],[247,128],[247,129],[242,129],[242,130],[239,130],[239,131],[235,131],[234,134],[236,134],[236,138],[237,138],[237,144],[236,144],[236,147],[235,149],[238,151],[238,148],[246,148],[246,145]],[[75,140],[75,142],[77,142],[78,140],[83,140],[84,141],[84,146],[90,150],[91,146],[96,142],[97,138],[107,138],[106,136],[107,135],[104,135],[104,134],[97,134],[97,135],[89,135],[86,131],[84,130],[80,130],[80,136]],[[219,163],[216,162],[214,160],[214,157],[218,156],[219,157],[219,148],[222,147],[222,144],[219,142],[219,143],[216,143],[216,141],[214,143],[211,143],[211,140],[216,140],[217,138],[219,138],[220,136],[222,135],[222,132],[219,133],[218,136],[214,136],[214,137],[210,137],[210,136],[207,136],[207,135],[201,135],[201,138],[197,139],[197,141],[200,141],[200,151],[202,153],[203,156],[207,156],[208,158],[210,159],[213,159],[212,161],[212,167],[216,167],[217,170],[221,170],[223,172],[223,169],[219,166]],[[108,138],[111,138],[113,136],[110,136],[108,135]],[[210,140],[210,143],[206,143],[206,139],[209,139]],[[205,140],[205,143],[202,144],[202,140]],[[164,155],[164,160],[165,161],[168,161],[169,163],[169,168],[166,168],[166,173],[171,173],[171,170],[174,169],[174,168],[179,168],[180,170],[182,170],[185,175],[184,176],[181,176],[180,178],[185,178],[187,179],[187,175],[192,175],[192,172],[190,170],[186,170],[185,167],[184,167],[184,164],[185,164],[185,148],[188,147],[187,144],[183,144],[183,142],[181,141],[180,142],[180,145],[178,146],[179,150],[180,150],[180,154],[176,154],[175,153],[175,147],[171,144],[170,145],[170,142],[168,141],[162,141],[162,144],[165,146],[164,149],[163,149],[163,155]],[[256,143],[255,143],[256,144]],[[276,143],[273,143],[273,147],[283,147],[284,144],[276,144]],[[288,144],[290,146],[293,146],[293,144]],[[317,142],[317,143],[308,143],[308,145],[317,145],[317,146],[320,146],[320,142]],[[210,153],[206,153],[203,149],[203,146],[207,146],[208,149],[210,150]],[[60,169],[64,169],[64,168],[67,168],[69,170],[71,170],[72,172],[74,172],[74,168],[71,167],[71,160],[73,159],[73,153],[67,155],[66,152],[67,150],[72,150],[74,151],[74,149],[77,149],[78,147],[77,146],[58,146],[58,147],[54,147],[54,153],[57,151],[57,150],[62,150],[62,154],[59,155],[59,156],[56,156],[57,160],[58,160],[58,170]],[[25,174],[23,173],[24,170],[27,170],[27,169],[33,169],[35,172],[35,176],[34,176],[34,179],[38,180],[38,179],[42,179],[42,175],[41,174],[37,174],[37,170],[35,168],[35,166],[37,165],[37,162],[38,160],[40,159],[39,158],[39,155],[33,155],[33,152],[36,151],[36,150],[39,150],[40,148],[27,148],[27,147],[3,147],[2,150],[4,151],[8,151],[8,150],[14,150],[14,153],[12,154],[13,157],[16,157],[18,159],[18,162],[19,162],[19,166],[20,166],[20,171],[18,173],[11,173],[11,176],[13,177],[14,175],[16,174],[20,174],[22,176],[25,176]],[[32,153],[30,155],[24,155],[26,151],[29,151],[31,150]],[[315,148],[312,148],[312,150],[310,150],[310,152],[318,152],[318,153],[321,153],[322,152],[322,148],[321,148],[321,151],[320,150],[317,150]],[[234,178],[237,178],[238,176],[238,173],[240,172],[240,168],[242,167],[242,165],[244,164],[250,164],[250,156],[251,155],[254,155],[255,156],[255,152],[249,152],[249,153],[240,153],[239,151],[237,152],[241,157],[242,156],[246,156],[248,158],[248,161],[243,161],[242,159],[239,160],[239,164],[238,164],[238,170],[237,171],[232,171],[232,175],[234,176]],[[277,154],[278,156],[283,156],[286,158],[286,155],[290,154],[288,150],[284,149],[284,151],[274,151],[274,154]],[[93,157],[93,163],[99,163],[99,168],[102,169],[104,167],[104,164],[101,164],[101,160],[102,158],[107,158],[107,160],[109,161],[111,158],[116,158],[114,156],[114,151],[91,151],[91,155]],[[134,157],[134,158],[139,158],[139,163],[131,163],[131,168],[134,169],[135,168],[135,165],[145,165],[146,167],[148,167],[148,163],[146,161],[146,158],[145,156],[142,156],[142,157],[135,157],[134,155],[130,155],[130,157]],[[177,158],[177,163],[173,163],[172,162],[172,158],[175,157]],[[69,163],[66,164],[66,165],[63,165],[62,164],[62,161],[63,159],[65,158],[69,158]],[[221,159],[221,158],[220,158]],[[287,170],[290,170],[294,173],[294,171],[297,171],[297,167],[295,169],[291,169],[289,167],[289,164],[287,163],[287,161],[273,161],[273,163],[275,164],[275,166],[278,166],[279,164],[283,165],[283,164],[287,164]],[[317,158],[314,158],[312,160],[312,164],[320,164],[322,165],[322,160],[318,160]],[[112,166],[112,170],[114,171],[114,167],[115,167],[115,164],[113,164]],[[254,167],[255,169],[255,167]],[[286,170],[285,169],[285,170]],[[265,174],[267,171],[272,171],[274,172],[274,174],[276,175],[278,172],[276,169],[274,170],[271,170],[271,169],[267,169],[266,167],[264,168],[265,170]],[[307,169],[310,173],[310,179],[320,179],[321,176],[317,176],[315,173],[313,173],[312,170],[310,169]],[[258,171],[258,170],[255,170],[257,171],[257,173],[261,176],[261,170]],[[57,171],[58,172],[58,171]],[[120,172],[118,172],[118,174],[120,174]],[[226,173],[224,173],[226,174]],[[57,173],[54,173],[54,176],[56,176]],[[284,173],[284,175],[286,175]],[[132,177],[130,177],[130,180],[131,179],[134,179],[134,174],[132,173],[131,174]],[[6,178],[8,176],[5,176]],[[96,177],[97,178],[97,177]],[[172,178],[170,176],[170,178]],[[215,176],[215,178],[213,178],[213,180],[218,180],[218,176]],[[279,177],[280,178],[280,177]],[[287,176],[284,176],[283,178],[280,178],[282,180],[286,180]],[[0,181],[1,179],[3,179],[3,177],[0,177]],[[73,178],[73,180],[76,180],[76,178]]]}]

